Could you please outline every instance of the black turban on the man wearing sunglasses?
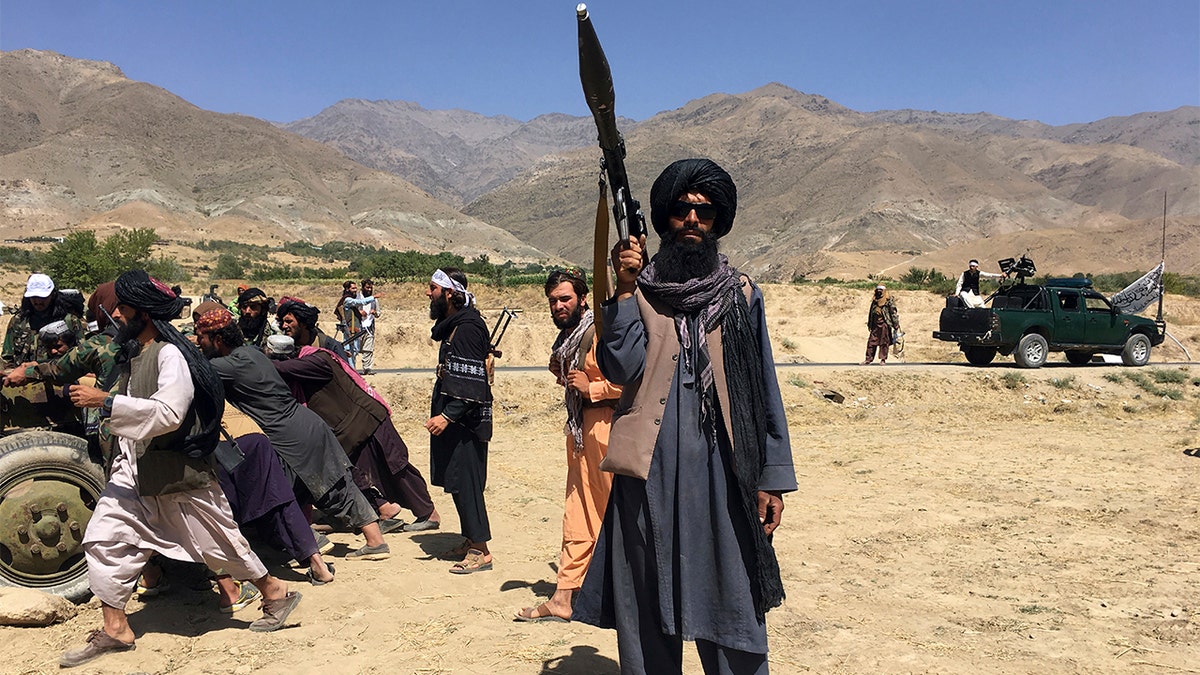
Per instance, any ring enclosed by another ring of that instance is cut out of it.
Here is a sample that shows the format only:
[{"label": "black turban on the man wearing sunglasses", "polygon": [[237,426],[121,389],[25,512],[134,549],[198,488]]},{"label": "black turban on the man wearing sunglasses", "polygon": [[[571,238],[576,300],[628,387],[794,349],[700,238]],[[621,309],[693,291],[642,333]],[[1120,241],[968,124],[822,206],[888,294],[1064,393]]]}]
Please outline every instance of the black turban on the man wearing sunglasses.
[{"label": "black turban on the man wearing sunglasses", "polygon": [[716,207],[713,235],[725,237],[733,229],[738,210],[738,189],[733,178],[713,160],[679,160],[662,169],[650,187],[650,222],[659,237],[671,231],[667,219],[671,204],[686,192],[700,192]]}]

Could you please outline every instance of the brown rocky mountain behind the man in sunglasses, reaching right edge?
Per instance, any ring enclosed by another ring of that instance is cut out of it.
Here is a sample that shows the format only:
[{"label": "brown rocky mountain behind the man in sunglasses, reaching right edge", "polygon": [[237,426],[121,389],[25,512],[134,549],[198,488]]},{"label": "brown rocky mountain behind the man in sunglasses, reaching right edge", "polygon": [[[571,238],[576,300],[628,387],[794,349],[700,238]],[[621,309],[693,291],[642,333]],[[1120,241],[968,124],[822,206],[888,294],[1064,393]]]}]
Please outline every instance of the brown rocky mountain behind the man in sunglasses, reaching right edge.
[{"label": "brown rocky mountain behind the man in sunglasses, reaching right edge", "polygon": [[[692,101],[625,136],[631,187],[647,211],[653,179],[676,159],[710,156],[734,175],[738,221],[722,249],[767,279],[919,265],[943,250],[1007,257],[1012,250],[990,251],[986,240],[1025,232],[1054,233],[1063,264],[1087,271],[1148,268],[1157,252],[1130,259],[1111,243],[1160,219],[1164,192],[1184,232],[1172,269],[1189,271],[1200,270],[1196,112],[1068,132],[991,115],[864,114],[772,84]],[[1056,135],[1063,139],[1048,138]],[[596,154],[544,157],[464,211],[587,264]]]}]

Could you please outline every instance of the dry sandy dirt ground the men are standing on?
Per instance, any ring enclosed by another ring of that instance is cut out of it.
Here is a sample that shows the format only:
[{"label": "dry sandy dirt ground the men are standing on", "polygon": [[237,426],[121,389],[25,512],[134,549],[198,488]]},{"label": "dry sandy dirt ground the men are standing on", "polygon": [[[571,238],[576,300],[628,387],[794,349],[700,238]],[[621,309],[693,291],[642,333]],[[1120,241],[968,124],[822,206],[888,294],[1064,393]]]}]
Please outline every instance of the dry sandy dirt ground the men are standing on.
[{"label": "dry sandy dirt ground the men are standing on", "polygon": [[[380,292],[377,368],[431,366],[422,288]],[[1178,364],[1182,348],[1156,348],[1142,369],[1061,354],[1033,371],[1004,358],[970,368],[930,338],[941,298],[901,293],[905,358],[857,366],[866,292],[766,294],[800,485],[775,536],[787,601],[768,615],[773,671],[1200,673],[1200,366]],[[136,651],[77,671],[617,673],[614,633],[511,620],[553,590],[564,411],[548,372],[515,368],[544,366],[553,340],[538,289],[480,295],[490,322],[524,310],[497,372],[494,571],[446,573],[437,555],[458,543],[457,522],[434,491],[443,530],[389,534],[390,560],[342,560],[360,539],[335,532],[336,583],[277,567],[305,596],[295,626],[251,633],[257,608],[229,617],[214,593],[180,585],[130,603]],[[1166,307],[1196,358],[1200,301]],[[372,382],[425,471],[432,375]],[[59,626],[0,628],[0,671],[56,671],[98,625],[92,601]],[[685,671],[700,671],[690,646]]]}]

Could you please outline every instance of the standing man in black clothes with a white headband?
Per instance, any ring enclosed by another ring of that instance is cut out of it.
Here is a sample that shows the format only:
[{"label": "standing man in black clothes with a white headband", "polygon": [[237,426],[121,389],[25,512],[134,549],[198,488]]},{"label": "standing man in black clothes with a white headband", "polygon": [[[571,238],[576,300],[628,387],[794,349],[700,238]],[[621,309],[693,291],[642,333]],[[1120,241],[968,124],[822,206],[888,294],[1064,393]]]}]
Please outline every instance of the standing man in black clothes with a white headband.
[{"label": "standing man in black clothes with a white headband", "polygon": [[492,568],[492,538],[484,503],[487,482],[487,442],[492,438],[492,386],[487,354],[492,345],[487,324],[467,291],[467,275],[457,268],[433,273],[425,292],[430,299],[432,336],[438,350],[438,377],[425,429],[430,431],[430,482],[454,496],[466,540],[450,551],[458,560],[452,574]]}]

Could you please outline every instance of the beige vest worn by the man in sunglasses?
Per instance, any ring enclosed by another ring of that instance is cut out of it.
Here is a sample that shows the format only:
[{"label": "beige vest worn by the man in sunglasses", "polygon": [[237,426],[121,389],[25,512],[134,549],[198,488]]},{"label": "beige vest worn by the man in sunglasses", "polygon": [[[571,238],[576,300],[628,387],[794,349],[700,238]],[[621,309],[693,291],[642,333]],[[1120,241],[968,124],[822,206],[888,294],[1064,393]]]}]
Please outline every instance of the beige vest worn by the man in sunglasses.
[{"label": "beige vest worn by the man in sunglasses", "polygon": [[[752,287],[743,276],[743,289],[749,299]],[[646,366],[642,377],[624,386],[620,402],[612,417],[608,455],[600,468],[644,480],[650,474],[650,459],[659,438],[662,412],[667,406],[671,381],[679,360],[679,336],[676,333],[674,311],[641,291],[634,293],[646,327]],[[708,356],[713,362],[713,382],[716,400],[725,422],[726,438],[733,437],[730,426],[730,390],[725,383],[725,354],[721,351],[721,327],[708,333]]]}]

